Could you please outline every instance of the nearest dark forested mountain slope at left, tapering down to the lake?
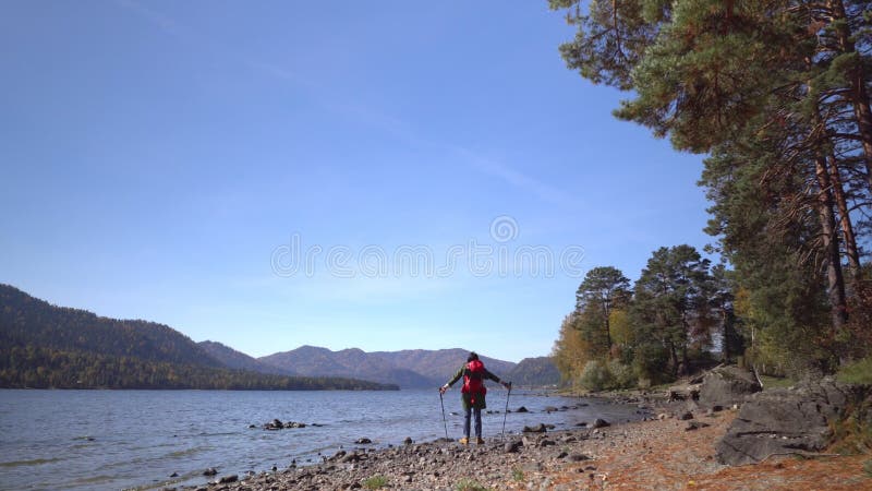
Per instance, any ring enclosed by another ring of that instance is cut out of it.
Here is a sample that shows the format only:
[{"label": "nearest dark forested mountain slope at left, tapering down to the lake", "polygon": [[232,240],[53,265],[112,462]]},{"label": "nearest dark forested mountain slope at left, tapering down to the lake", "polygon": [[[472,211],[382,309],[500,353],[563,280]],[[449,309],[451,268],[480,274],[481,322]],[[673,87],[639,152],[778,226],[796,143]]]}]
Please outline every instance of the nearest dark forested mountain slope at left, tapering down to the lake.
[{"label": "nearest dark forested mountain slope at left, tapering down to the lake", "polygon": [[204,348],[164,324],[56,307],[0,284],[0,387],[398,388],[354,378],[288,376],[240,355]]}]

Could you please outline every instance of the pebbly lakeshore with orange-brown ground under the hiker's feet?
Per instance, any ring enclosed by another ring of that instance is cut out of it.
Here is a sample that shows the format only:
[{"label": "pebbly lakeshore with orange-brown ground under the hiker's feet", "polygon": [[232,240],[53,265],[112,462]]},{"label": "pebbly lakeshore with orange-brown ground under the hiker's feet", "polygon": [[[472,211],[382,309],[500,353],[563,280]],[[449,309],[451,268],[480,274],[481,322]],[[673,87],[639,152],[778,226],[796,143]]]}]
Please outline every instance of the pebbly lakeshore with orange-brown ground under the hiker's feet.
[{"label": "pebbly lakeshore with orange-brown ground under the hiker's feet", "polygon": [[[485,439],[484,445],[464,446],[439,439],[380,450],[339,451],[319,464],[249,476],[216,476],[207,484],[164,489],[719,491],[872,487],[872,474],[864,470],[870,466],[868,455],[806,459],[777,456],[738,467],[718,464],[714,445],[736,418],[736,410],[687,411],[683,404],[654,403],[663,394],[615,396],[600,398],[623,404],[635,400],[658,415],[602,428],[507,434],[505,440]],[[691,418],[685,419],[686,412]]]}]

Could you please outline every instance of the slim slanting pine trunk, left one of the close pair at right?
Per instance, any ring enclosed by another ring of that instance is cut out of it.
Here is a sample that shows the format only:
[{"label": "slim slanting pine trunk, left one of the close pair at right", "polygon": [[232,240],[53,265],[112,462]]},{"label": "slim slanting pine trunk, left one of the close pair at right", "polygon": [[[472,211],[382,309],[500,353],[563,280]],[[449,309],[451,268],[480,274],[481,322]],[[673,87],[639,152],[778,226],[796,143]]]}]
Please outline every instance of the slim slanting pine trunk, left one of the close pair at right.
[{"label": "slim slanting pine trunk, left one of the close pair at right", "polygon": [[839,331],[845,325],[845,321],[847,321],[848,309],[845,301],[845,279],[841,275],[841,256],[838,250],[836,217],[833,212],[833,197],[829,175],[826,171],[826,159],[822,156],[815,158],[814,168],[818,185],[820,185],[818,191],[818,214],[821,219],[833,330]]}]

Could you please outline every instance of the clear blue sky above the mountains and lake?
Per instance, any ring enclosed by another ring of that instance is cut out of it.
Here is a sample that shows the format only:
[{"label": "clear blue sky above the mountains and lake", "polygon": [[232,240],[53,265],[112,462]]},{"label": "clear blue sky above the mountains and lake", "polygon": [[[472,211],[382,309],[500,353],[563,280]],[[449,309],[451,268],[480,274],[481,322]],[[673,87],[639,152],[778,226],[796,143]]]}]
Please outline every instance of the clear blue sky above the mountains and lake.
[{"label": "clear blue sky above the mountains and lake", "polygon": [[711,241],[702,158],[614,119],[572,34],[545,0],[3,1],[0,283],[252,356],[547,355],[588,270]]}]

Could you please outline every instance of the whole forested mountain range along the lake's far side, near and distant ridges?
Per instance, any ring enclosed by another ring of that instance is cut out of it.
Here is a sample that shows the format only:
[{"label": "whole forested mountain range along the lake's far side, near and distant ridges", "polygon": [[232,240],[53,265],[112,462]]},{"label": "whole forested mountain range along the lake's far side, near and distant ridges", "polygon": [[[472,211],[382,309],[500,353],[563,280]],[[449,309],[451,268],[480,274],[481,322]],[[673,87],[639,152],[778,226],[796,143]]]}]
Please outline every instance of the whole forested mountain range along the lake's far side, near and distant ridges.
[{"label": "whole forested mountain range along the lake's far side, near and distant ridges", "polygon": [[[302,346],[253,358],[220,343],[194,343],[162,324],[51,306],[2,284],[0,343],[0,387],[437,387],[469,354],[463,349],[365,352]],[[559,382],[556,367],[546,357],[512,363],[482,355],[482,361],[516,384]],[[180,374],[192,380],[181,380]]]}]

